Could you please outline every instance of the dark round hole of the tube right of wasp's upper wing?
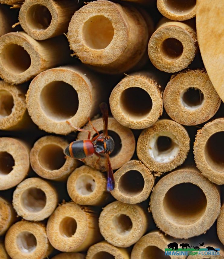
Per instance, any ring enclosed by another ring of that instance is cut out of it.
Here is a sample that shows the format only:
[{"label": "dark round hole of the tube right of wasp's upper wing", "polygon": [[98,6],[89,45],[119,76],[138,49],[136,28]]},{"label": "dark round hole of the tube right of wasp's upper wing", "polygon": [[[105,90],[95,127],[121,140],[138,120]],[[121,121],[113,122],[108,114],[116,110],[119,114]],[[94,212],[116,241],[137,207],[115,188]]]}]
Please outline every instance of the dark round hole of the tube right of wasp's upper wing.
[{"label": "dark round hole of the tube right of wasp's upper wing", "polygon": [[120,107],[126,116],[134,120],[142,120],[152,110],[152,99],[144,89],[130,87],[122,92]]}]

